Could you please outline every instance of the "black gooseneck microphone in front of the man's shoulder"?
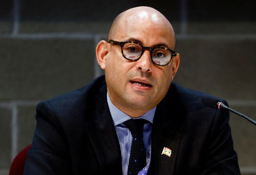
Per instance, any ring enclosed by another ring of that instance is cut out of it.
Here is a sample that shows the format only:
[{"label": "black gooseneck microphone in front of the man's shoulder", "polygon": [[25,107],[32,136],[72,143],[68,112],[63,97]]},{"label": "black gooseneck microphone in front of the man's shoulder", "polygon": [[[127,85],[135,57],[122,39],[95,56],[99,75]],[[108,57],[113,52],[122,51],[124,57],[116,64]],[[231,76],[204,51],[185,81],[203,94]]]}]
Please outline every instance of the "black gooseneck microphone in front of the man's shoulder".
[{"label": "black gooseneck microphone in front of the man's shoulder", "polygon": [[224,105],[222,102],[220,102],[220,100],[218,98],[209,96],[209,95],[205,95],[203,96],[201,102],[208,107],[211,108],[218,108],[218,109],[227,109],[229,111],[231,111],[232,113],[235,113],[241,117],[244,117],[246,120],[250,121],[251,123],[253,123],[254,125],[256,125],[256,121],[252,120],[251,118],[247,117],[246,115],[239,113],[237,111],[235,111],[234,109],[231,109],[230,107]]}]

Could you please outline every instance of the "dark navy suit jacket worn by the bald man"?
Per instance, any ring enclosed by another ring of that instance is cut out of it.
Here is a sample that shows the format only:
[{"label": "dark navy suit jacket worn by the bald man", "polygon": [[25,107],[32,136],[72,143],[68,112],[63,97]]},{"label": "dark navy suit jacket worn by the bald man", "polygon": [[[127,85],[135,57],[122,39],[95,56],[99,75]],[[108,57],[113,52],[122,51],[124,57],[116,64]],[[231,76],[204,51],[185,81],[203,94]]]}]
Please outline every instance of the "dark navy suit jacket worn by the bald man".
[{"label": "dark navy suit jacket worn by the bald man", "polygon": [[[156,108],[148,174],[240,174],[229,114],[204,106],[203,95],[171,84]],[[24,174],[122,174],[104,76],[36,110]]]}]

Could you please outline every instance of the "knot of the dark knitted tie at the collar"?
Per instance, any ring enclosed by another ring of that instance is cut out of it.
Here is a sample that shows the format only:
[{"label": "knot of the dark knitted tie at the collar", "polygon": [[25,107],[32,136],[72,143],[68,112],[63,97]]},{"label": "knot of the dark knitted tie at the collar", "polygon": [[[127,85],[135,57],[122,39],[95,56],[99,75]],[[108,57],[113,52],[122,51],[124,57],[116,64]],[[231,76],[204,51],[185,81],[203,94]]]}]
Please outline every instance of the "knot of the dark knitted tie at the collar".
[{"label": "knot of the dark knitted tie at the collar", "polygon": [[143,138],[143,126],[149,121],[145,119],[130,119],[124,125],[131,131],[132,137]]}]

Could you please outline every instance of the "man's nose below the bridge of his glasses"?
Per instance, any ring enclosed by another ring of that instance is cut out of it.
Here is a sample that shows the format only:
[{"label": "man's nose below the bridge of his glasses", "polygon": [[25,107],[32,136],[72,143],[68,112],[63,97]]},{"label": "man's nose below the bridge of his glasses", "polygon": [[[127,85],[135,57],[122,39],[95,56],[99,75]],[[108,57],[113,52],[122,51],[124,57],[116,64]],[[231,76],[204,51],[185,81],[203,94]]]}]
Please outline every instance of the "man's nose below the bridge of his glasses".
[{"label": "man's nose below the bridge of his glasses", "polygon": [[152,62],[150,57],[150,50],[145,50],[141,58],[137,61],[137,69],[143,72],[152,71]]}]

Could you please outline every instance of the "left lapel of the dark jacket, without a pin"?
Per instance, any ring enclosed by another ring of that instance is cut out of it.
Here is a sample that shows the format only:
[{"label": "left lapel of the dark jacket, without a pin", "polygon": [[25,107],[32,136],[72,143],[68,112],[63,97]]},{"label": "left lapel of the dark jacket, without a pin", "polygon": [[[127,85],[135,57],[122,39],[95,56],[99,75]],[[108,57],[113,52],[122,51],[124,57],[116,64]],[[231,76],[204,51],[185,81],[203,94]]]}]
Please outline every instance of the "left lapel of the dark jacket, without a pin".
[{"label": "left lapel of the dark jacket, without a pin", "polygon": [[99,160],[102,174],[122,174],[122,158],[116,129],[107,104],[104,85],[90,105],[92,120],[86,122],[89,138]]}]

